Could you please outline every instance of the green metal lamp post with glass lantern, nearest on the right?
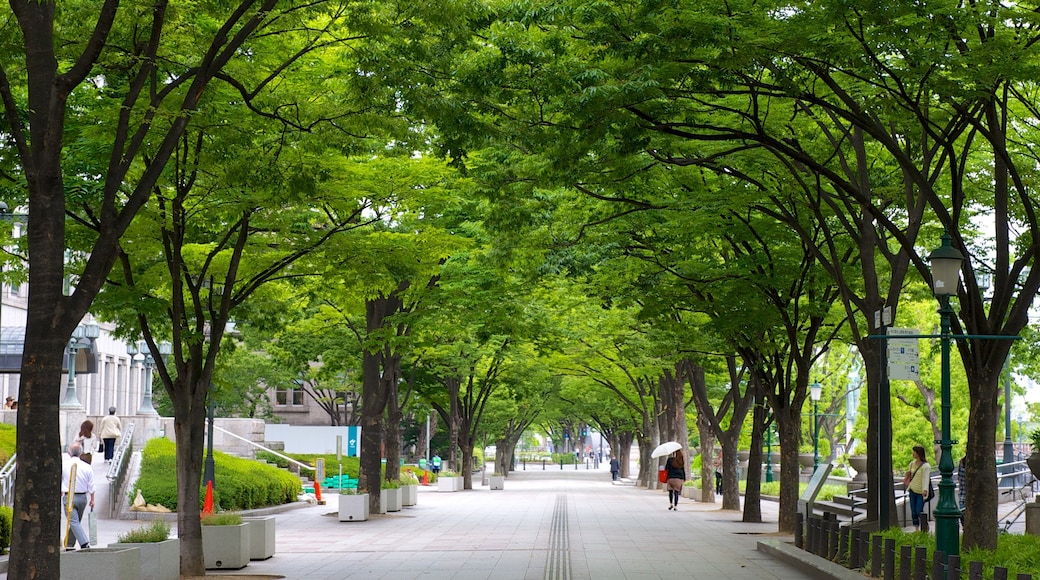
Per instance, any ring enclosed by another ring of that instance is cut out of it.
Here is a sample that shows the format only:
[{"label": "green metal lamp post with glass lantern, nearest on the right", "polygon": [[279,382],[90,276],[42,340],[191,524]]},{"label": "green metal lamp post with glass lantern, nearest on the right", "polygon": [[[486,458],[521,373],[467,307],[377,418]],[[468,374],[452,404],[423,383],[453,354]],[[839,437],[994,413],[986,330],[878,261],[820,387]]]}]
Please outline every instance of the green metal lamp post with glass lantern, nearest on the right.
[{"label": "green metal lamp post with glass lantern, nearest on the right", "polygon": [[948,233],[942,234],[942,245],[928,257],[932,263],[932,292],[939,299],[939,345],[942,363],[941,438],[939,440],[939,503],[935,508],[935,549],[946,556],[960,555],[960,510],[954,500],[954,456],[950,434],[950,318],[954,309],[950,296],[957,293],[961,263],[964,256],[950,244]]}]

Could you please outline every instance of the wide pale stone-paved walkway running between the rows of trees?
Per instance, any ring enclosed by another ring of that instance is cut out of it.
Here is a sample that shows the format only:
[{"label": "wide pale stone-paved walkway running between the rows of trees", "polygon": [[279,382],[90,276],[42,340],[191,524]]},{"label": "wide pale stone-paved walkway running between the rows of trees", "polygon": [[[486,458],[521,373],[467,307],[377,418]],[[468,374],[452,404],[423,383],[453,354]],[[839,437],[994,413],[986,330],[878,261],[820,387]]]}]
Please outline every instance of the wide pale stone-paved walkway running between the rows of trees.
[{"label": "wide pale stone-paved walkway running between the rows of trees", "polygon": [[[367,522],[338,522],[338,494],[327,505],[277,515],[277,552],[241,571],[292,579],[782,579],[805,572],[756,550],[776,533],[776,504],[763,524],[737,511],[680,500],[664,491],[610,481],[606,469],[513,472],[504,491],[419,489],[418,504]],[[99,545],[138,522],[102,520]],[[6,576],[0,575],[0,578]]]}]

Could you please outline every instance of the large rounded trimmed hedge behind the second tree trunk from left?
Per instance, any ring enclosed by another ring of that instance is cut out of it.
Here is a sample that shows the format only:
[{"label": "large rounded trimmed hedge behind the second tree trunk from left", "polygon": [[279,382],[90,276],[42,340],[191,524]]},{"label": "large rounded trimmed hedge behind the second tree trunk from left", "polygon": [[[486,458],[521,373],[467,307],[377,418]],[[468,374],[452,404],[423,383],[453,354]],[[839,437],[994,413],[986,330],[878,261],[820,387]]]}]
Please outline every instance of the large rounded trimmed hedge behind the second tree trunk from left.
[{"label": "large rounded trimmed hedge behind the second tree trunk from left", "polygon": [[[234,457],[219,451],[213,453],[213,501],[224,509],[254,509],[296,501],[303,491],[300,478],[272,466]],[[177,510],[176,447],[166,439],[153,439],[141,451],[140,477],[130,491],[138,490],[145,501]],[[206,490],[200,482],[200,506]]]}]

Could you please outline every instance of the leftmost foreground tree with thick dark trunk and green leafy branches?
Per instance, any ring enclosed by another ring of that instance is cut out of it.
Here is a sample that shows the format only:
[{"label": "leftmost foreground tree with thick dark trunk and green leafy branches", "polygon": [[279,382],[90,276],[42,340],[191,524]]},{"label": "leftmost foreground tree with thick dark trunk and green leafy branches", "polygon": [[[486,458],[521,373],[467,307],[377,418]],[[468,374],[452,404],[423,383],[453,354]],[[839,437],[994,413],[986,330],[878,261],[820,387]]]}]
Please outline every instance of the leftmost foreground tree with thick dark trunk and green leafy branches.
[{"label": "leftmost foreground tree with thick dark trunk and green leafy branches", "polygon": [[[18,29],[10,27],[4,41],[0,101],[5,146],[14,150],[18,167],[4,179],[28,207],[31,257],[12,577],[57,577],[54,450],[60,436],[59,393],[53,386],[60,379],[64,344],[103,286],[120,239],[152,194],[190,113],[216,79],[233,81],[233,62],[263,55],[264,62],[254,60],[250,68],[274,79],[286,64],[329,42],[327,29],[314,28],[314,22],[334,27],[345,15],[327,2],[301,7],[243,0],[222,8],[201,15],[170,9],[163,1],[139,7],[115,0],[100,6],[10,3]],[[286,48],[280,36],[290,31],[293,50],[279,52]],[[242,50],[245,46],[250,50]],[[251,90],[243,91],[246,100],[257,95]],[[107,144],[89,152],[93,170],[71,166],[75,157],[67,154],[77,143],[76,130],[108,135]],[[81,190],[88,194],[70,199],[77,182],[89,185]],[[87,226],[82,243],[70,243],[66,219],[72,213]],[[67,271],[70,245],[84,252],[75,272]],[[70,295],[62,292],[67,273],[76,281]]]}]

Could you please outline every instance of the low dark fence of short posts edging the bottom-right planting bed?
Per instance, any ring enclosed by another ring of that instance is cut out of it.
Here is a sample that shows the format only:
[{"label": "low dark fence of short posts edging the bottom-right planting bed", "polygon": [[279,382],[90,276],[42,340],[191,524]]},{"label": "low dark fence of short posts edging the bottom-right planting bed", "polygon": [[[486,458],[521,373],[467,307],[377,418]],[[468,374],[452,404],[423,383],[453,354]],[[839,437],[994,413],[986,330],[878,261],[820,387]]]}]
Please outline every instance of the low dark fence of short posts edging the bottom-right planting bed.
[{"label": "low dark fence of short posts edging the bottom-right planting bed", "polygon": [[[924,546],[900,546],[899,563],[896,564],[895,541],[884,538],[879,534],[842,526],[836,519],[798,515],[795,530],[795,546],[822,558],[837,562],[846,568],[869,572],[872,578],[885,580],[968,580],[983,579],[982,562],[961,562],[959,556],[946,557],[936,551],[932,561],[928,561],[928,549]],[[881,557],[875,557],[880,554]],[[869,570],[867,570],[867,568]],[[1007,580],[1008,570],[994,566],[993,580]],[[1033,580],[1030,574],[1019,574],[1016,580]]]}]

